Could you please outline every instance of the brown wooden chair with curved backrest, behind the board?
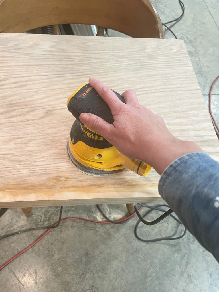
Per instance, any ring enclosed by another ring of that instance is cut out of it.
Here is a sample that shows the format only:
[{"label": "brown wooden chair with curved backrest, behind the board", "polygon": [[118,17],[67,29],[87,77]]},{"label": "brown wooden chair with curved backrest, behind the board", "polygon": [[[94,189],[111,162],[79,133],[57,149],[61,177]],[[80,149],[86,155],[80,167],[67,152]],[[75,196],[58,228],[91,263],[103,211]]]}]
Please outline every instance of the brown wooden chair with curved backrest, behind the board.
[{"label": "brown wooden chair with curved backrest, behind the board", "polygon": [[[149,0],[4,0],[0,32],[22,33],[36,27],[78,23],[97,25],[132,37],[164,38],[161,20]],[[134,204],[126,204],[133,213]],[[27,217],[32,208],[22,208]]]}]

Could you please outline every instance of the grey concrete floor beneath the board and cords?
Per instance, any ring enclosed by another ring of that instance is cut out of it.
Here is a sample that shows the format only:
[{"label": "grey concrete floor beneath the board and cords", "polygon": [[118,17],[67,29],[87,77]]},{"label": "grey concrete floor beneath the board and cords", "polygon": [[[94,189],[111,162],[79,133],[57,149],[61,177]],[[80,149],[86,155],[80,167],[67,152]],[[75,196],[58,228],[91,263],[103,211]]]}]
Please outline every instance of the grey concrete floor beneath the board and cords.
[{"label": "grey concrete floor beneath the board and cords", "polygon": [[[183,2],[185,17],[173,31],[185,40],[207,100],[210,85],[219,75],[219,2]],[[153,3],[163,22],[180,14],[177,0],[154,0]],[[109,31],[109,34],[115,33]],[[172,36],[167,32],[166,37]],[[218,100],[219,82],[213,95],[213,112],[219,123]],[[126,212],[125,205],[103,208],[112,219]],[[9,209],[0,220],[1,234],[51,224],[58,219],[58,213],[59,207],[34,208],[32,217],[27,219],[21,209]],[[66,216],[102,219],[95,206],[64,207],[63,217]],[[189,232],[176,241],[143,243],[133,234],[136,221],[133,218],[124,225],[62,223],[0,272],[1,292],[219,291],[218,263]],[[151,227],[140,225],[139,229],[140,236],[145,238],[182,232],[183,227],[171,218]],[[33,231],[1,240],[0,265],[41,233]]]}]

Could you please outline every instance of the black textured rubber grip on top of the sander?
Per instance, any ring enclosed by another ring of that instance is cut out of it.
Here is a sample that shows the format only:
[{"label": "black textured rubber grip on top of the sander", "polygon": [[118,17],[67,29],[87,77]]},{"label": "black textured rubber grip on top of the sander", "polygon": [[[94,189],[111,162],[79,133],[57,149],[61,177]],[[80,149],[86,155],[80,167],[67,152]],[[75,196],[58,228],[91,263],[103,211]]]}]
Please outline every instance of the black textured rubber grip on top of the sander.
[{"label": "black textured rubber grip on top of the sander", "polygon": [[[114,91],[118,98],[125,103],[124,97]],[[79,120],[82,112],[95,114],[96,116],[104,119],[107,123],[113,124],[114,119],[112,112],[106,102],[95,91],[90,84],[83,86],[69,101],[68,110],[73,116]]]}]

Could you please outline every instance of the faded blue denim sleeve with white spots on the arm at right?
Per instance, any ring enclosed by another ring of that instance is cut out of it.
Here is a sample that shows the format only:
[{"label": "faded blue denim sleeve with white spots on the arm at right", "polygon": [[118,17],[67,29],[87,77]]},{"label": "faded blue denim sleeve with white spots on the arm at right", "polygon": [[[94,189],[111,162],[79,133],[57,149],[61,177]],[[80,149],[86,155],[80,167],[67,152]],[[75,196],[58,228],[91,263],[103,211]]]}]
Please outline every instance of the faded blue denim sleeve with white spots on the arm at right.
[{"label": "faded blue denim sleeve with white spots on the arm at right", "polygon": [[219,163],[202,152],[186,154],[164,170],[158,190],[219,262]]}]

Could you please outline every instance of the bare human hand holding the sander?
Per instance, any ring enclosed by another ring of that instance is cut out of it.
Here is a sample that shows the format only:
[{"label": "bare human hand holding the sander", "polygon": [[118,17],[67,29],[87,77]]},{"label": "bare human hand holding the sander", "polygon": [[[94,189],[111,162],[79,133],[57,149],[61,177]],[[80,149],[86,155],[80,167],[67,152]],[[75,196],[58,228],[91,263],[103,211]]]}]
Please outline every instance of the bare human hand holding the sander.
[{"label": "bare human hand holding the sander", "polygon": [[178,157],[202,151],[194,142],[174,137],[160,116],[139,104],[135,91],[126,90],[122,94],[126,102],[123,103],[101,81],[90,78],[89,84],[109,106],[114,123],[88,113],[80,115],[81,122],[127,157],[142,160],[161,174]]}]

